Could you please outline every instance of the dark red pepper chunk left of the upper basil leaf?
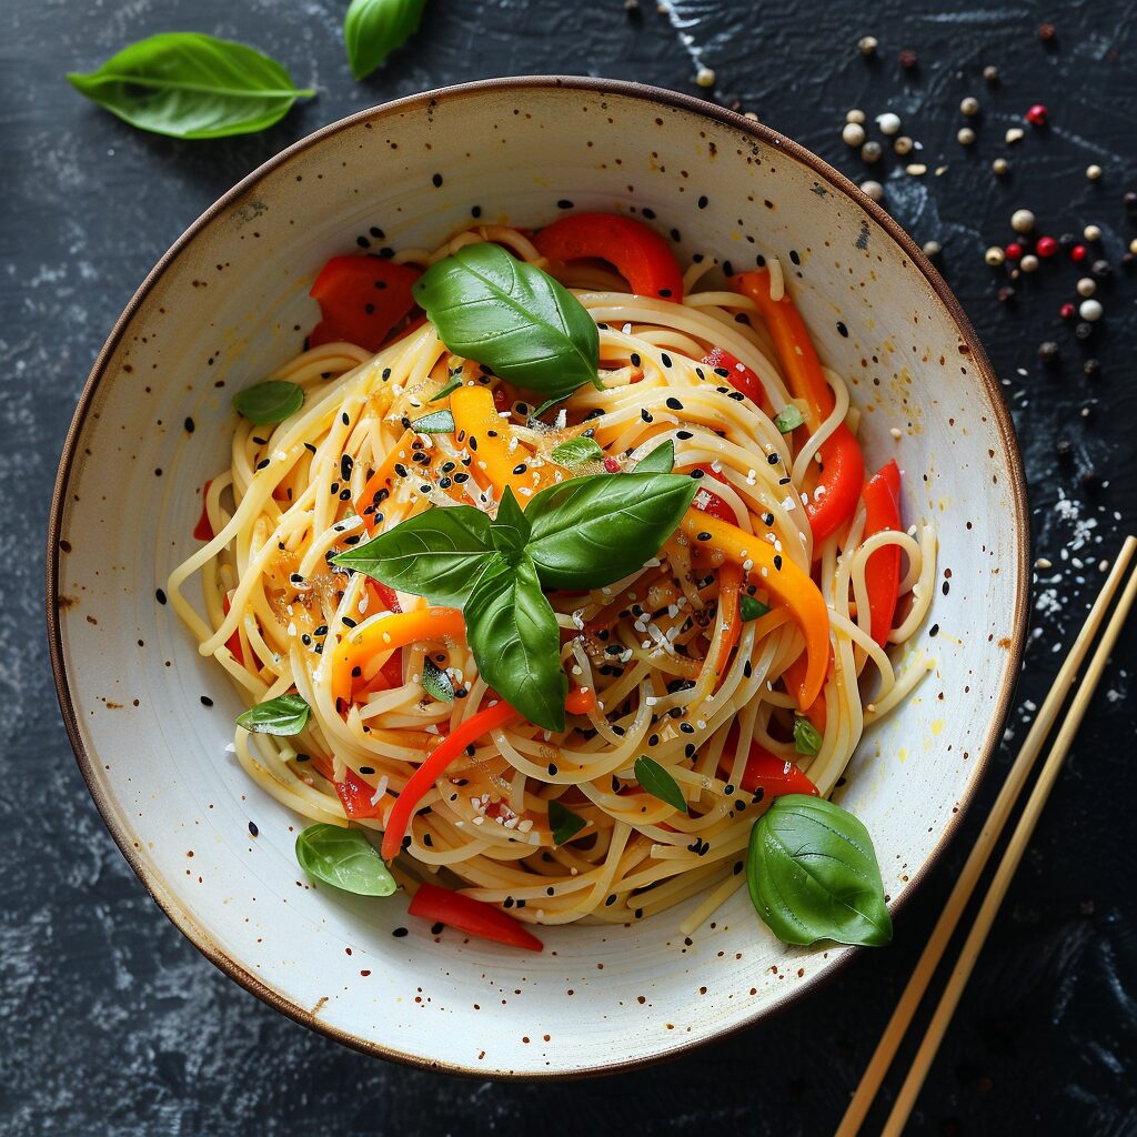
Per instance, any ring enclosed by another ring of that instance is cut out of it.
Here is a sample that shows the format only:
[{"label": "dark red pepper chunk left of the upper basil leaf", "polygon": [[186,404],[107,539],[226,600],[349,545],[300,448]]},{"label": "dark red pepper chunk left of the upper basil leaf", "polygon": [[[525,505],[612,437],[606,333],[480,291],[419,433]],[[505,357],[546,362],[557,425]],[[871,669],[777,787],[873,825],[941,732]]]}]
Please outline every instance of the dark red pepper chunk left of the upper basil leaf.
[{"label": "dark red pepper chunk left of the upper basil leaf", "polygon": [[309,293],[319,301],[324,318],[313,329],[308,346],[347,340],[377,351],[415,307],[410,287],[420,275],[417,268],[385,257],[332,257]]}]

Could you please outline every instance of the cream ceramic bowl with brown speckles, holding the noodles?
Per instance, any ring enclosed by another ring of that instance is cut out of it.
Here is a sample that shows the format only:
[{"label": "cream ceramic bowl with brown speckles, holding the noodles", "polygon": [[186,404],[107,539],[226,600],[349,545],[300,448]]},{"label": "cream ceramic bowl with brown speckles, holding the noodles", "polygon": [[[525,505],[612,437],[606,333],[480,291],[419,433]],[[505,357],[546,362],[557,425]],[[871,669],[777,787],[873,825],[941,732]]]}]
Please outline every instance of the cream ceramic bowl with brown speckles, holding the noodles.
[{"label": "cream ceramic bowl with brown speckles, holding the noodles", "polygon": [[[72,744],[134,871],[225,972],[362,1049],[491,1077],[677,1054],[818,986],[852,949],[779,944],[745,890],[694,943],[670,912],[626,929],[547,929],[534,956],[449,933],[435,943],[398,896],[307,887],[296,819],[226,753],[235,692],[156,590],[194,547],[232,391],[300,348],[326,257],[372,226],[380,244],[432,246],[475,207],[536,225],[566,201],[654,210],[686,257],[736,268],[781,257],[822,354],[852,383],[870,458],[899,458],[906,518],[939,529],[928,622],[939,634],[919,637],[938,665],[865,738],[843,798],[873,835],[894,908],[987,764],[1027,611],[1022,473],[974,333],[895,222],[765,126],[622,83],[473,84],[335,123],[194,222],[115,326],[64,453],[48,615]],[[392,936],[400,928],[409,935]]]}]

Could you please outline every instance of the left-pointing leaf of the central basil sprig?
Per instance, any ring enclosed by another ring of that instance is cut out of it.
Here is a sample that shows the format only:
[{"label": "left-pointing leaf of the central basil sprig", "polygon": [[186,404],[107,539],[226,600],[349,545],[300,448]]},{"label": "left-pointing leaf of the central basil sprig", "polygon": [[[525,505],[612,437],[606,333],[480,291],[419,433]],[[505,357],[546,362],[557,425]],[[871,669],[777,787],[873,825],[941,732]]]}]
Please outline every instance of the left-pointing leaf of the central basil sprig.
[{"label": "left-pointing leaf of the central basil sprig", "polygon": [[332,558],[431,604],[460,607],[495,556],[490,518],[470,505],[435,507]]}]

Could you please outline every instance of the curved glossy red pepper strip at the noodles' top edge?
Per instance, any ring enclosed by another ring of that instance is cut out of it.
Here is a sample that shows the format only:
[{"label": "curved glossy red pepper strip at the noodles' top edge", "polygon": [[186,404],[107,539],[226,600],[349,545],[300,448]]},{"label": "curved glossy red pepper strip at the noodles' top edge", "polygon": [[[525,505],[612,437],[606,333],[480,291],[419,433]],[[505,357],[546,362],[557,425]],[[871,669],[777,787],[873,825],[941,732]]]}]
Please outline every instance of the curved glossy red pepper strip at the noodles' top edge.
[{"label": "curved glossy red pepper strip at the noodles' top edge", "polygon": [[572,214],[533,238],[549,260],[607,260],[637,296],[683,299],[683,273],[671,246],[642,222],[619,214]]}]

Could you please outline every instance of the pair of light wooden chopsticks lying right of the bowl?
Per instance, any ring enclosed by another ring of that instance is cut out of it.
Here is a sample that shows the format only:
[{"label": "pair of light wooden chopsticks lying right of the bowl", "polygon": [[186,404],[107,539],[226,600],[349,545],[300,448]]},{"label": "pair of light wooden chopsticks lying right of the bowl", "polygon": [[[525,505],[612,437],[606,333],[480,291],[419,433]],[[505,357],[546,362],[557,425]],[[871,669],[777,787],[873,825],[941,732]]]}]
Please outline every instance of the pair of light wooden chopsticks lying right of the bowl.
[{"label": "pair of light wooden chopsticks lying right of the bowl", "polygon": [[[1089,654],[1102,623],[1105,621],[1106,612],[1121,583],[1121,578],[1129,567],[1129,562],[1132,559],[1135,550],[1137,550],[1137,538],[1126,538],[1126,542],[1122,545],[1118,559],[1114,562],[1113,568],[1106,578],[1101,595],[1094,601],[1094,606],[1086,617],[1086,623],[1074,640],[1070,655],[1062,665],[1062,670],[1059,671],[1057,678],[1054,680],[1054,686],[1046,696],[1046,700],[1043,703],[1030,728],[1030,732],[1022,744],[1022,749],[1019,752],[1019,756],[1014,760],[1014,764],[1006,775],[1006,781],[1003,783],[1003,788],[999,790],[998,797],[991,806],[991,812],[976,840],[974,848],[972,848],[971,855],[963,866],[963,871],[960,873],[955,888],[952,889],[952,895],[948,897],[944,912],[932,930],[923,955],[920,956],[920,962],[916,964],[915,971],[912,972],[912,978],[904,988],[904,994],[901,996],[901,1001],[893,1012],[893,1018],[889,1019],[888,1026],[885,1028],[885,1034],[877,1044],[877,1049],[869,1062],[864,1077],[861,1079],[861,1085],[857,1086],[856,1093],[853,1095],[853,1099],[845,1111],[845,1117],[837,1128],[836,1137],[855,1137],[864,1122],[873,1098],[877,1096],[877,1092],[885,1080],[885,1074],[888,1072],[888,1068],[904,1039],[905,1031],[908,1029],[915,1015],[916,1007],[928,988],[932,972],[935,972],[939,961],[944,956],[944,952],[952,938],[952,933],[955,931],[960,916],[963,914],[963,910],[971,898],[976,885],[979,882],[979,878],[998,841],[999,835],[1007,823],[1011,811],[1014,808],[1014,804],[1019,799],[1027,779],[1030,777],[1030,772],[1038,755],[1041,753],[1051,728],[1057,720],[1062,705],[1065,703],[1067,694],[1073,686],[1078,670]],[[1057,737],[1054,739],[1054,745],[1051,747],[1051,752],[1043,763],[1038,781],[1035,783],[1022,815],[1019,818],[1019,823],[1014,828],[1014,833],[1007,843],[1003,860],[995,871],[995,875],[987,889],[987,895],[984,897],[982,905],[976,915],[976,922],[960,951],[955,968],[947,981],[944,994],[940,996],[939,1005],[931,1016],[923,1041],[920,1044],[919,1051],[916,1051],[912,1067],[893,1105],[893,1111],[889,1113],[888,1120],[885,1122],[885,1128],[881,1130],[881,1137],[898,1137],[907,1123],[916,1096],[923,1086],[928,1070],[936,1057],[936,1052],[939,1049],[939,1044],[943,1041],[944,1034],[952,1020],[952,1014],[960,1003],[963,988],[971,977],[979,953],[987,940],[987,933],[991,929],[1004,896],[1006,896],[1011,878],[1014,877],[1015,870],[1019,868],[1019,862],[1022,860],[1027,843],[1030,840],[1039,814],[1043,812],[1043,806],[1046,805],[1046,799],[1054,788],[1054,781],[1070,750],[1073,737],[1078,732],[1082,719],[1086,716],[1086,709],[1093,698],[1094,689],[1102,678],[1102,672],[1105,670],[1113,645],[1117,642],[1126,617],[1129,615],[1130,607],[1132,607],[1135,596],[1137,596],[1137,570],[1130,574],[1126,583],[1121,599],[1118,601],[1113,616],[1105,628],[1105,632],[1097,649],[1094,652],[1081,684],[1074,694],[1073,702],[1070,704],[1065,720],[1062,722]]]}]

